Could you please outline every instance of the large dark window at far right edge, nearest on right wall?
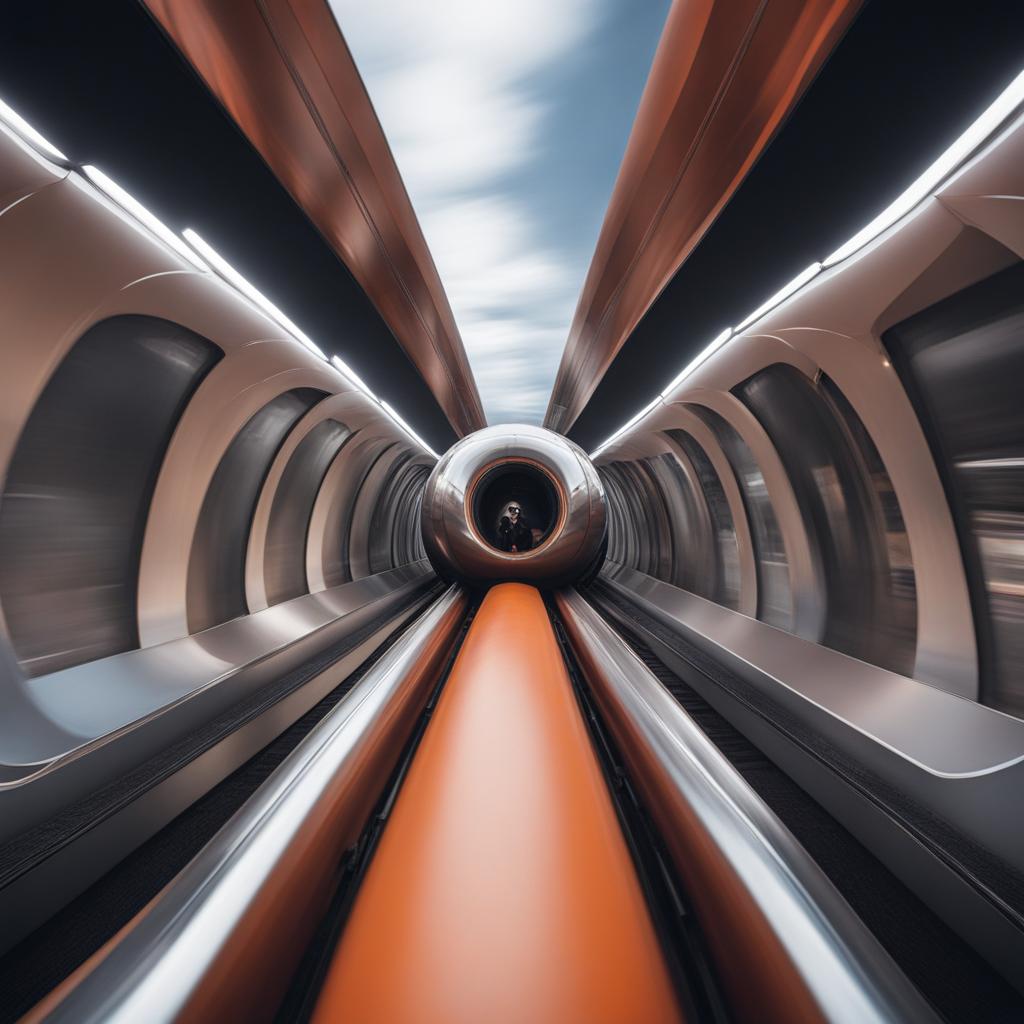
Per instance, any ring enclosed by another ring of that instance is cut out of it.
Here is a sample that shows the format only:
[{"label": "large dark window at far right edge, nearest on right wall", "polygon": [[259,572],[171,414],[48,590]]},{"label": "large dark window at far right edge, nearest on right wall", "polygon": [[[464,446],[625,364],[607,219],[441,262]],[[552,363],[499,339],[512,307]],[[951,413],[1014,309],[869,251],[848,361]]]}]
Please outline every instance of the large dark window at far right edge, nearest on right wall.
[{"label": "large dark window at far right edge, nearest on right wall", "polygon": [[1024,716],[1024,266],[890,329],[972,584],[981,697]]}]

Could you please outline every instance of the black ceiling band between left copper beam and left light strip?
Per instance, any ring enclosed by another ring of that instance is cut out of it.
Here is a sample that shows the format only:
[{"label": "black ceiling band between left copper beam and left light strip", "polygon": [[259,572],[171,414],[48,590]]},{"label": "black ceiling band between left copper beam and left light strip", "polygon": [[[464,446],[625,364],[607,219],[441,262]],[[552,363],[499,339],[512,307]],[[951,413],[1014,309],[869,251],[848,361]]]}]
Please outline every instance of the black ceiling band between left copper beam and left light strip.
[{"label": "black ceiling band between left copper beam and left light strip", "polygon": [[429,444],[453,443],[362,288],[141,5],[22,5],[0,33],[0,96],[169,226],[197,229]]}]

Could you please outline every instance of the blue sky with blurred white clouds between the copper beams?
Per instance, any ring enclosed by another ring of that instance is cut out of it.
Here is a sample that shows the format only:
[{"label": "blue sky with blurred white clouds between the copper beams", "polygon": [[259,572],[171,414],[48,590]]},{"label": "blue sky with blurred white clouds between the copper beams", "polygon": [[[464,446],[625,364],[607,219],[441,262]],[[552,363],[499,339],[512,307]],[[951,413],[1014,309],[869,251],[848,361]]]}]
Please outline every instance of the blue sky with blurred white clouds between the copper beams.
[{"label": "blue sky with blurred white clouds between the copper beams", "polygon": [[669,0],[330,0],[490,424],[540,423]]}]

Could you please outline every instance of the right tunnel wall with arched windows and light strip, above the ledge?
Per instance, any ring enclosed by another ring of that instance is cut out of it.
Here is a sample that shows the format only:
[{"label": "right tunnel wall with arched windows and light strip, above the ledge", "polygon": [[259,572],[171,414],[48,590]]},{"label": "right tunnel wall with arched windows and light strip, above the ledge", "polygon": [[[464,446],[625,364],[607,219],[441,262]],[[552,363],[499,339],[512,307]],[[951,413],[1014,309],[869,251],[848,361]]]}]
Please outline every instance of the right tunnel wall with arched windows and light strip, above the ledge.
[{"label": "right tunnel wall with arched windows and light strip, above the ledge", "polygon": [[594,453],[605,571],[1024,716],[1021,166],[1018,118]]}]

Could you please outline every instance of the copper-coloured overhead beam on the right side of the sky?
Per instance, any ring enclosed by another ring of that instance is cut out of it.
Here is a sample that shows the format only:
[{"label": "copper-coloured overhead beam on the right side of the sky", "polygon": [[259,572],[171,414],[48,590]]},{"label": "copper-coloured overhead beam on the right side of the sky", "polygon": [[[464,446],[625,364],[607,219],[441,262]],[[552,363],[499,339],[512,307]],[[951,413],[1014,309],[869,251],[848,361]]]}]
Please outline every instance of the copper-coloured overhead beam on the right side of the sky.
[{"label": "copper-coloured overhead beam on the right side of the sky", "polygon": [[545,426],[568,432],[859,6],[859,0],[673,4]]}]

